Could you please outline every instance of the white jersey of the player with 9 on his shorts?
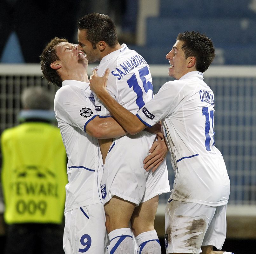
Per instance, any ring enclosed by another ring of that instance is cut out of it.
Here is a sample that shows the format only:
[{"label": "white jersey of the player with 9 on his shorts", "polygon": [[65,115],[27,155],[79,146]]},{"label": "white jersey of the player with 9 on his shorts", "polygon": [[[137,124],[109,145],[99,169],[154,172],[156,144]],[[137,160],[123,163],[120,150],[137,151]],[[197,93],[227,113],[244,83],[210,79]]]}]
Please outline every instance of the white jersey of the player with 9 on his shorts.
[{"label": "white jersey of the player with 9 on his shorts", "polygon": [[89,83],[75,80],[63,81],[55,95],[54,110],[68,156],[65,212],[102,202],[100,147],[98,139],[85,132],[97,116],[93,101]]}]

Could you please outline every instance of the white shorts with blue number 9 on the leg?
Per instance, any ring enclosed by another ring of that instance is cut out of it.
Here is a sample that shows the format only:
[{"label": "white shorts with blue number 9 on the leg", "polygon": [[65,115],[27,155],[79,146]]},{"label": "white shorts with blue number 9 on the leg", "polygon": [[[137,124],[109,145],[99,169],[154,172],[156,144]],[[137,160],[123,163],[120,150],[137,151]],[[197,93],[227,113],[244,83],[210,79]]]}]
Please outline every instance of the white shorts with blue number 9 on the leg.
[{"label": "white shorts with blue number 9 on the leg", "polygon": [[63,249],[66,254],[104,254],[108,236],[102,203],[65,212]]}]

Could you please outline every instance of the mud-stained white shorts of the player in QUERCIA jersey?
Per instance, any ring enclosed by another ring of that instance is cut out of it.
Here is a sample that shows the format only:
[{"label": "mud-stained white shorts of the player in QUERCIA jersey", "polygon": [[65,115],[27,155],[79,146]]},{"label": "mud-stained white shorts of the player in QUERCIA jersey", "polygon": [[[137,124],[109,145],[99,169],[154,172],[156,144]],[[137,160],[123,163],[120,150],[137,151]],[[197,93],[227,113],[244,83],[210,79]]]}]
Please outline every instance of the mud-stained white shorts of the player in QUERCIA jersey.
[{"label": "mud-stained white shorts of the player in QUERCIA jersey", "polygon": [[165,208],[166,253],[200,253],[201,246],[221,250],[226,239],[226,205],[212,207],[171,200]]}]

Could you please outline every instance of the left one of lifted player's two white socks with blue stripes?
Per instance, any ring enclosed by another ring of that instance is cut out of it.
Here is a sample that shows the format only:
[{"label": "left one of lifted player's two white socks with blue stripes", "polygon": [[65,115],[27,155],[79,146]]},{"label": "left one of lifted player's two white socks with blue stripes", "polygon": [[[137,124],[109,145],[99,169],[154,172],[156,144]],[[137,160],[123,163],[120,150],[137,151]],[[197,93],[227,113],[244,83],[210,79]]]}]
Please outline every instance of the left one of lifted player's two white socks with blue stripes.
[{"label": "left one of lifted player's two white socks with blue stripes", "polygon": [[134,254],[134,245],[130,228],[119,228],[109,234],[109,254]]}]

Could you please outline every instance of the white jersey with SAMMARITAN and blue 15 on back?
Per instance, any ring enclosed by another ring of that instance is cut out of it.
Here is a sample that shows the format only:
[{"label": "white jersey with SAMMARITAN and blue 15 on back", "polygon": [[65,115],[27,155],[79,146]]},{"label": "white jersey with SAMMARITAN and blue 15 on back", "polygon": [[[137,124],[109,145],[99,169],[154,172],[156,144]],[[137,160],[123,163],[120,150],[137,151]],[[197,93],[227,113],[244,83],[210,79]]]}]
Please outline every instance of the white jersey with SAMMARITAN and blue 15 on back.
[{"label": "white jersey with SAMMARITAN and blue 15 on back", "polygon": [[[143,107],[152,99],[153,86],[149,66],[145,59],[136,51],[129,50],[123,44],[122,48],[103,57],[98,69],[98,76],[104,76],[109,68],[107,90],[123,107],[132,113]],[[95,110],[100,117],[110,116],[104,104],[95,96]]]}]

